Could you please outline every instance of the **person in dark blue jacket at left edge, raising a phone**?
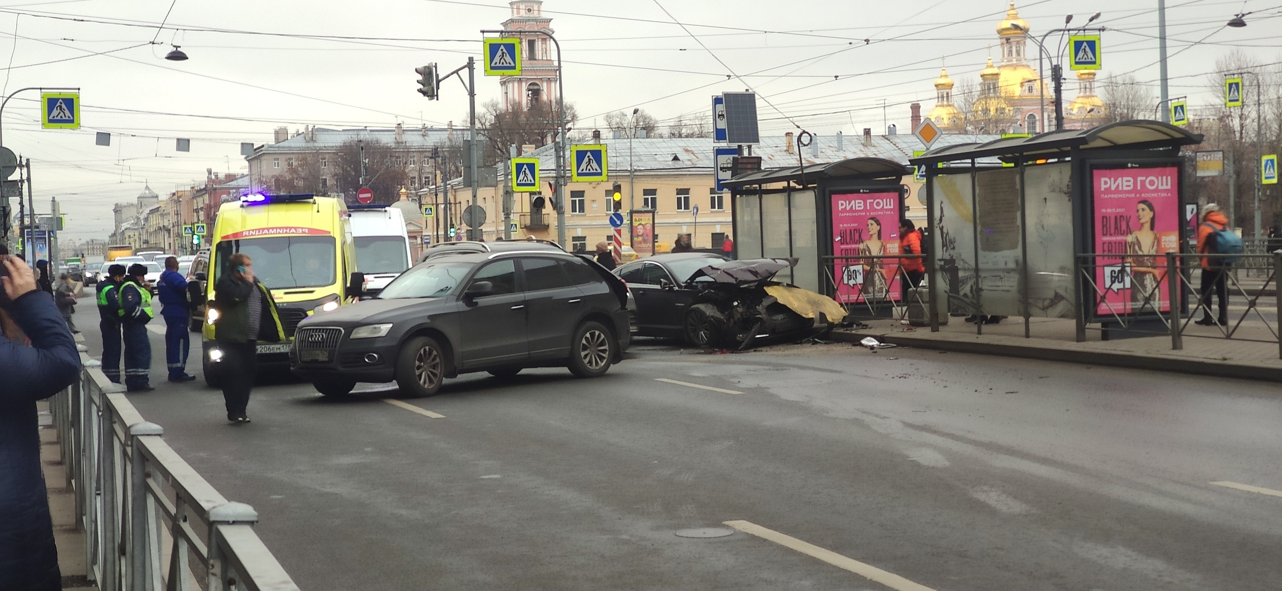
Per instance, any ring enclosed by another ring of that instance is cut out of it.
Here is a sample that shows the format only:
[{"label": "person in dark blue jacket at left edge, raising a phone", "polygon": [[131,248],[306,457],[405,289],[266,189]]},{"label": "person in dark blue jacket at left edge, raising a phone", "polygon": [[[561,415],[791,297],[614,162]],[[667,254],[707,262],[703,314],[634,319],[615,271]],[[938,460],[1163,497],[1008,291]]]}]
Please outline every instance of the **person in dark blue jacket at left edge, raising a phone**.
[{"label": "person in dark blue jacket at left edge, raising a phone", "polygon": [[36,401],[77,379],[79,353],[29,267],[0,255],[0,588],[59,591]]}]

